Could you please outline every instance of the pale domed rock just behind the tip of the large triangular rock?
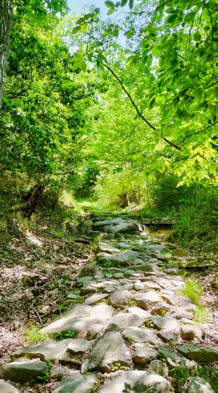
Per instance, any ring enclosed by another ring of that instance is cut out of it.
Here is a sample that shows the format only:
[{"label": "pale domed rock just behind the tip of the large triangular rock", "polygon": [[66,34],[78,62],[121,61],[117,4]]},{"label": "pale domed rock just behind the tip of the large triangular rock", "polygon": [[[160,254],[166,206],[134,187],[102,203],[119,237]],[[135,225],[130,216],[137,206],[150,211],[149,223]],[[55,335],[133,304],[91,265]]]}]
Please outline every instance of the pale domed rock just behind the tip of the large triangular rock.
[{"label": "pale domed rock just behind the tip of the large triangular rock", "polygon": [[119,314],[111,318],[108,326],[106,327],[106,332],[120,331],[125,327],[130,326],[139,327],[145,322],[145,319],[145,317],[139,316],[137,314],[120,312]]}]

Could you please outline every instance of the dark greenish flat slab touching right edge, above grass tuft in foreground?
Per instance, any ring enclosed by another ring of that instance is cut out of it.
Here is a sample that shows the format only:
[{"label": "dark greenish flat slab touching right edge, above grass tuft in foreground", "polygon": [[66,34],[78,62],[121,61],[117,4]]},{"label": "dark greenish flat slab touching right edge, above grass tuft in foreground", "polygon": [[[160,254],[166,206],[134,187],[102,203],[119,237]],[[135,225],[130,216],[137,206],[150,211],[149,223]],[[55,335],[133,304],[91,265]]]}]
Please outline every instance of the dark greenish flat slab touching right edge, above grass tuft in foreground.
[{"label": "dark greenish flat slab touching right edge, above grass tuft in foreground", "polygon": [[177,351],[190,360],[200,363],[218,362],[218,346],[200,347],[194,344],[183,344],[176,347]]}]

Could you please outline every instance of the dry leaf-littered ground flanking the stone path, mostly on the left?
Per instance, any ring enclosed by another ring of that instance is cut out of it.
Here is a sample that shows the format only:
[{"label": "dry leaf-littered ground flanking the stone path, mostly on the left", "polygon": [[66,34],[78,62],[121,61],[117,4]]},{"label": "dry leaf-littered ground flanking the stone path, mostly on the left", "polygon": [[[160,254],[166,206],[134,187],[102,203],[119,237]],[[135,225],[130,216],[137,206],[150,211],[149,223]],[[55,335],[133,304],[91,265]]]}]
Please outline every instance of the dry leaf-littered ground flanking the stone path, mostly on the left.
[{"label": "dry leaf-littered ground flanking the stone path, mostly on the left", "polygon": [[[18,211],[8,220],[7,230],[0,235],[0,364],[7,362],[12,352],[27,346],[29,327],[46,325],[66,311],[66,297],[77,289],[78,272],[87,263],[94,263],[99,244],[99,239],[72,234],[69,221],[78,224],[88,217],[89,213],[79,217],[68,207],[58,213],[39,211],[29,221]],[[169,241],[168,229],[156,228],[148,233],[162,244]],[[193,270],[187,271],[185,281],[202,286],[201,303],[209,316],[202,325],[205,338],[201,346],[218,345],[218,272],[213,266]],[[19,390],[50,392],[54,385],[54,381],[27,384]]]}]

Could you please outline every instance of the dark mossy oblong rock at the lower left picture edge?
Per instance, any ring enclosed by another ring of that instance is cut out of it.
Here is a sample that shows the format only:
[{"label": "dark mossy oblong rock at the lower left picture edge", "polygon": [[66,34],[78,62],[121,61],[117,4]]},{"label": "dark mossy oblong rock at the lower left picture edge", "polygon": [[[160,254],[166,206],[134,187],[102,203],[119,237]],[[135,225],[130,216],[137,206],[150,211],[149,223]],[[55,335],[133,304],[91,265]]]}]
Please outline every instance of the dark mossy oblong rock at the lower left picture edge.
[{"label": "dark mossy oblong rock at the lower left picture edge", "polygon": [[45,362],[12,362],[0,367],[0,378],[14,382],[29,382],[48,372]]}]

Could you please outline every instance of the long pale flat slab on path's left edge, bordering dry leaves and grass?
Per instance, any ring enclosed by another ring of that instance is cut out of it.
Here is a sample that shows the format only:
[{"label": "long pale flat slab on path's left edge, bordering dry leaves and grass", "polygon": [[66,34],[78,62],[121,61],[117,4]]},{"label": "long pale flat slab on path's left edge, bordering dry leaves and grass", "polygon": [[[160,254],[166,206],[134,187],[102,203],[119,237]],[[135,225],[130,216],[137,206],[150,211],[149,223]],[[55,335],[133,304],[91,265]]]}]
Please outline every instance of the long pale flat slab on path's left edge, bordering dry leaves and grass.
[{"label": "long pale flat slab on path's left edge, bordering dry leaves and grass", "polygon": [[68,333],[70,331],[76,334],[88,331],[90,326],[94,323],[101,323],[99,318],[86,317],[86,318],[63,318],[61,320],[50,323],[50,325],[41,329],[41,332],[45,333]]}]

